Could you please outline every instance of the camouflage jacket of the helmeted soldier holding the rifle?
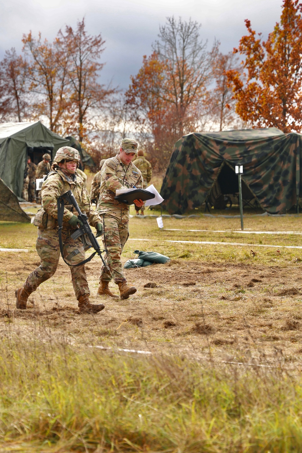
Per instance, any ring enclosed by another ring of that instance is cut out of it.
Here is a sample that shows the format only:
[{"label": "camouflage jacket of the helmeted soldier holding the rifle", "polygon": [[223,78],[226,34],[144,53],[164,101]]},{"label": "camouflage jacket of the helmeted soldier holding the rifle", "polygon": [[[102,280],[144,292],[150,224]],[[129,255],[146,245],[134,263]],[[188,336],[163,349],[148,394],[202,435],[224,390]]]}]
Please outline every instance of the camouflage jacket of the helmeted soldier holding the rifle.
[{"label": "camouflage jacket of the helmeted soldier holding the rifle", "polygon": [[[41,188],[41,197],[42,197],[42,207],[44,212],[47,212],[48,217],[52,217],[53,225],[48,228],[58,227],[58,207],[57,202],[58,198],[63,195],[63,193],[71,190],[74,198],[79,205],[81,212],[85,212],[88,217],[89,223],[92,226],[96,226],[97,223],[101,222],[101,218],[96,214],[90,205],[90,200],[86,190],[84,189],[84,184],[81,178],[76,177],[76,175],[71,175],[70,177],[66,176],[60,169],[57,169],[51,172],[48,178],[43,181]],[[72,218],[73,215],[77,216],[77,211],[73,206],[67,204],[64,201],[65,208],[63,213],[63,226],[69,226],[67,223],[68,220]]]}]

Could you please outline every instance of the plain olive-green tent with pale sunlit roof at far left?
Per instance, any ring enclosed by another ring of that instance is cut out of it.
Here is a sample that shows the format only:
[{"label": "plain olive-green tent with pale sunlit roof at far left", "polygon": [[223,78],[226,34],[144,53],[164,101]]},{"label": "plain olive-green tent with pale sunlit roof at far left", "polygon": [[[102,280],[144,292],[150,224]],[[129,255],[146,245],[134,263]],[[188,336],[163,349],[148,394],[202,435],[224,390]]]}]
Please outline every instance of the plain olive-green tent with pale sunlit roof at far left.
[{"label": "plain olive-green tent with pale sunlit roof at far left", "polygon": [[0,178],[21,198],[28,157],[38,164],[45,153],[54,158],[67,139],[55,134],[39,121],[0,124]]}]

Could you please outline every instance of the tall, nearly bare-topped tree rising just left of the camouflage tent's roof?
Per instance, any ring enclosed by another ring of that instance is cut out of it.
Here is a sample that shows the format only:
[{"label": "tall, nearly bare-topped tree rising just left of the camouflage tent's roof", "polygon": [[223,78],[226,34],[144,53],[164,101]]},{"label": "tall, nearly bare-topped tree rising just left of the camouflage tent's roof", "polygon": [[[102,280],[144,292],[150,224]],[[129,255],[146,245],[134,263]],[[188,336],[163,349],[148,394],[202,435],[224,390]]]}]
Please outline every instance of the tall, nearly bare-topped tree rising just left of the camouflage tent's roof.
[{"label": "tall, nearly bare-topped tree rising just left of the camouflage tent's roof", "polygon": [[207,41],[199,38],[200,28],[201,25],[191,19],[186,22],[179,18],[177,23],[174,17],[168,17],[166,24],[160,26],[159,39],[153,45],[165,72],[159,96],[174,106],[180,135],[187,109],[206,95],[218,53],[216,40],[211,50],[206,50]]}]

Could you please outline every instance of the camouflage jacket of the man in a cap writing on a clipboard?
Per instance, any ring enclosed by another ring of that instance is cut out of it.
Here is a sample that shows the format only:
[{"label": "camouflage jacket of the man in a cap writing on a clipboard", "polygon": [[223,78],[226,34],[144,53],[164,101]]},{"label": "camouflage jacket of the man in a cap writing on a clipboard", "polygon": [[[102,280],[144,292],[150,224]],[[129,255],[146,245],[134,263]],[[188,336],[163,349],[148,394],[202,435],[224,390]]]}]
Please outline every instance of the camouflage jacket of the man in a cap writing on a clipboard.
[{"label": "camouflage jacket of the man in a cap writing on a clipboard", "polygon": [[96,212],[109,214],[117,219],[129,218],[129,206],[115,200],[116,189],[143,188],[142,173],[130,162],[124,165],[119,154],[107,159],[101,169],[100,199]]}]

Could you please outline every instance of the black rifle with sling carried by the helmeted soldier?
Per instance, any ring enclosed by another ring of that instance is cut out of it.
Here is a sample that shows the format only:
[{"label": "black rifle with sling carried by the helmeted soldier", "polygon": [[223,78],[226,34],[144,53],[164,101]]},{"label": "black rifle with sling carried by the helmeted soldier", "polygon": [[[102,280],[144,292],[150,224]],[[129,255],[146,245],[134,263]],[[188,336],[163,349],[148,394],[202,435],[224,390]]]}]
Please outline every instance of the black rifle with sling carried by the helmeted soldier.
[{"label": "black rifle with sling carried by the helmeted soldier", "polygon": [[[81,220],[83,226],[81,226],[81,228],[77,228],[76,231],[74,231],[74,233],[72,233],[70,236],[72,237],[72,239],[76,240],[77,238],[79,238],[80,236],[83,236],[84,234],[86,234],[88,237],[89,237],[89,240],[91,242],[91,245],[92,247],[94,248],[95,252],[92,253],[89,258],[87,258],[86,260],[83,260],[81,261],[81,263],[79,264],[69,264],[67,263],[67,261],[65,261],[64,259],[64,256],[63,256],[63,245],[62,245],[62,222],[63,222],[63,213],[64,213],[64,199],[68,202],[68,204],[72,204],[76,210],[77,210],[77,213],[78,213],[78,216],[77,218],[79,220]],[[60,251],[61,251],[61,255],[62,255],[62,258],[64,260],[64,262],[68,265],[68,266],[72,266],[72,267],[75,267],[75,266],[80,266],[82,264],[85,264],[87,263],[88,261],[92,260],[92,258],[94,257],[94,255],[96,255],[96,253],[100,256],[101,260],[102,260],[102,263],[105,267],[105,270],[107,272],[109,272],[109,267],[106,265],[105,261],[104,261],[104,258],[102,257],[102,252],[104,252],[105,250],[102,250],[101,251],[101,247],[98,243],[98,241],[96,240],[93,232],[91,231],[91,228],[90,228],[90,225],[88,223],[88,218],[86,216],[86,214],[83,214],[79,208],[79,205],[77,204],[77,201],[76,199],[74,198],[73,196],[73,193],[71,190],[68,190],[66,193],[63,193],[63,195],[61,195],[61,197],[58,198],[58,225],[59,225],[59,244],[60,244]]]}]

